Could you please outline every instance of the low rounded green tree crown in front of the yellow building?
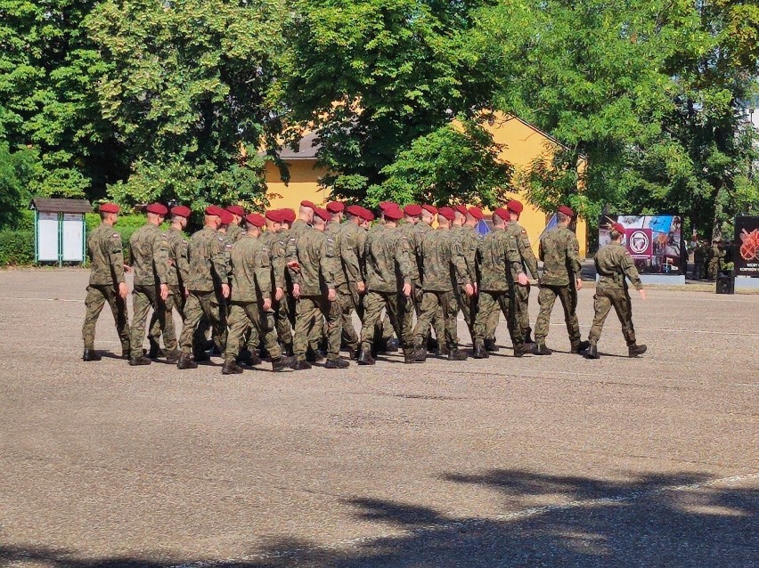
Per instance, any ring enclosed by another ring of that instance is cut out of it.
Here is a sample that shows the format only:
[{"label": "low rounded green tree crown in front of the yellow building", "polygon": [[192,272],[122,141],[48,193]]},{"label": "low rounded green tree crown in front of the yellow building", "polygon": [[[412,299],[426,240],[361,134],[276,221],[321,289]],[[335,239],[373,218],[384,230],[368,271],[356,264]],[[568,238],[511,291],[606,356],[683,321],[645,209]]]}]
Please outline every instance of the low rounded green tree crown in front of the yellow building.
[{"label": "low rounded green tree crown in front of the yellow building", "polygon": [[420,136],[396,161],[385,166],[387,179],[369,189],[367,200],[383,199],[444,205],[473,203],[494,207],[510,190],[511,168],[499,160],[502,146],[471,121],[441,126]]}]

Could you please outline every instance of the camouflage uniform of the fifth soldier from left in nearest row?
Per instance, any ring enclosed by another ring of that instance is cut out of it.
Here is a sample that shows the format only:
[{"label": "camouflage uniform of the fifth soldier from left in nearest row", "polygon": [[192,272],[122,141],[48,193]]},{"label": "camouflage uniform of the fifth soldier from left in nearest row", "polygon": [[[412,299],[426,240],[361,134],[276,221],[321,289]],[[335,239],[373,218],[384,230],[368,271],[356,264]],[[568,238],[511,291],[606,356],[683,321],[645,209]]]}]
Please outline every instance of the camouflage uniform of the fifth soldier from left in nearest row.
[{"label": "camouflage uniform of the fifth soldier from left in nearest row", "polygon": [[[290,236],[290,243],[293,239]],[[314,229],[304,231],[295,246],[300,271],[294,283],[300,286],[300,297],[296,304],[293,351],[298,361],[306,361],[307,344],[313,341],[314,329],[322,328],[322,316],[327,321],[327,356],[339,359],[340,307],[337,299],[330,302],[326,296],[328,290],[335,288],[334,245],[331,236]]]}]

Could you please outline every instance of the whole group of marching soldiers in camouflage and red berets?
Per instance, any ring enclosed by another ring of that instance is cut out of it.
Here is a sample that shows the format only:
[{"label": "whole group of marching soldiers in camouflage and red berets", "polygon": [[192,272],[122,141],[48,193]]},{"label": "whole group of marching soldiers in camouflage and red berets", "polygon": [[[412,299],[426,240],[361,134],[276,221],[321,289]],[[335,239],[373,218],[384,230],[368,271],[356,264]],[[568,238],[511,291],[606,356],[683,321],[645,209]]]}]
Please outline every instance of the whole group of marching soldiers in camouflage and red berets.
[{"label": "whole group of marching soldiers in camouflage and red berets", "polygon": [[[622,323],[628,354],[644,353],[646,346],[635,339],[627,280],[644,299],[645,291],[622,245],[624,228],[610,226],[612,242],[595,257],[595,317],[584,341],[575,313],[582,288],[579,244],[568,228],[574,212],[559,207],[558,225],[543,234],[539,273],[518,223],[522,208],[517,200],[496,208],[492,231],[481,236],[476,227],[484,215],[477,207],[382,202],[375,219],[365,207],[339,202],[322,208],[303,201],[298,215],[292,209],[258,215],[238,206],[210,206],[203,228],[188,239],[184,229],[191,210],[154,203],[147,207],[147,223],[129,241],[128,266],[113,228],[119,207],[103,204],[102,223],[87,239],[92,268],[83,359],[101,359],[94,350],[94,329],[106,303],[130,365],[147,365],[162,356],[178,369],[194,369],[197,361],[208,361],[211,351],[223,356],[225,375],[241,373],[242,364],[260,364],[260,355],[271,359],[274,371],[310,369],[312,362],[324,359],[325,368],[344,369],[350,363],[340,357],[341,347],[359,365],[373,365],[377,353],[399,346],[406,363],[424,362],[430,351],[464,361],[468,354],[459,347],[459,312],[474,358],[497,351],[501,313],[515,357],[550,355],[545,339],[557,299],[572,353],[599,357],[597,344],[611,308]],[[167,218],[170,226],[161,231]],[[124,276],[130,270],[131,326]],[[528,312],[531,284],[540,287],[534,341]],[[183,321],[179,337],[174,311]],[[359,332],[354,312],[362,322]],[[146,329],[149,351],[143,350]]]}]

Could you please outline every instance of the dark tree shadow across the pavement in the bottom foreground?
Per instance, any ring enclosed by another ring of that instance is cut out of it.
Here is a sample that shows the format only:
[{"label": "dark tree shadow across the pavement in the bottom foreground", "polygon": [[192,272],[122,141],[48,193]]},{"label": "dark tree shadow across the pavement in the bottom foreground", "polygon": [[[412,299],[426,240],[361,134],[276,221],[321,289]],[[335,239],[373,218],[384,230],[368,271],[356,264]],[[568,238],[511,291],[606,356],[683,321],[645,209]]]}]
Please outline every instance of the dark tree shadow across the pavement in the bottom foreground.
[{"label": "dark tree shadow across the pavement in the bottom foreground", "polygon": [[[385,499],[344,503],[380,536],[335,547],[281,539],[232,568],[388,567],[750,567],[759,565],[759,490],[722,487],[700,474],[641,475],[630,481],[493,470],[446,473],[454,485],[496,491],[503,515],[449,516]],[[737,480],[739,481],[739,480]],[[724,483],[723,483],[724,484]],[[412,500],[412,497],[409,499]],[[384,535],[382,535],[384,531]],[[0,565],[159,568],[150,557],[78,558],[67,551],[0,547]]]}]

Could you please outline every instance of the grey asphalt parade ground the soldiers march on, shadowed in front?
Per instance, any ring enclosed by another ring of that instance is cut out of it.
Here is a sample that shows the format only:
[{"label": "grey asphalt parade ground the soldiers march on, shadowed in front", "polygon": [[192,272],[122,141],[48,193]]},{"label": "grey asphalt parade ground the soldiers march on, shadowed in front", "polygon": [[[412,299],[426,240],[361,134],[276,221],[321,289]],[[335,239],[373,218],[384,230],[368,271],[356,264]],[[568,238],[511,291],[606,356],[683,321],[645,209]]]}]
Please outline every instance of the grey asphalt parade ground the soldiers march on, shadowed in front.
[{"label": "grey asphalt parade ground the soldiers march on, shadowed in front", "polygon": [[639,359],[557,306],[551,357],[224,377],[81,361],[86,281],[0,272],[0,566],[759,565],[759,296],[633,296]]}]

